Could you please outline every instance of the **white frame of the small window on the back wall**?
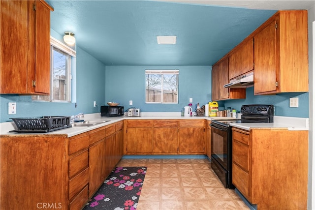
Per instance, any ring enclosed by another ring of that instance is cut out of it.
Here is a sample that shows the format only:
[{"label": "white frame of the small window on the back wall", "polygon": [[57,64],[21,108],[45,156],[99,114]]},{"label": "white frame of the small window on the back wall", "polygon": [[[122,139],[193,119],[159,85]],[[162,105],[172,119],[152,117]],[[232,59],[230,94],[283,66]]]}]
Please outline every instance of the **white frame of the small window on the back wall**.
[{"label": "white frame of the small window on the back wall", "polygon": [[[147,75],[148,74],[161,74],[161,101],[160,102],[150,102],[147,101]],[[177,102],[163,102],[163,93],[164,93],[164,89],[163,89],[163,76],[166,74],[172,74],[172,75],[177,75]],[[178,104],[179,103],[179,70],[174,69],[174,70],[145,70],[145,103],[146,104]]]}]

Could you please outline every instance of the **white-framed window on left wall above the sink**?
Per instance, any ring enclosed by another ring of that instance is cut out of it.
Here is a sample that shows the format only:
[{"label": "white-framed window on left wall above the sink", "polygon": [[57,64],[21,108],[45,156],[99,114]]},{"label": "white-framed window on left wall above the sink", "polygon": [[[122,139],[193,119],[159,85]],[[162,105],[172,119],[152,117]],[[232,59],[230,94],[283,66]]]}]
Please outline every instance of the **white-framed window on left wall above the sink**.
[{"label": "white-framed window on left wall above the sink", "polygon": [[51,37],[50,95],[34,95],[32,100],[71,102],[71,56],[75,51]]}]

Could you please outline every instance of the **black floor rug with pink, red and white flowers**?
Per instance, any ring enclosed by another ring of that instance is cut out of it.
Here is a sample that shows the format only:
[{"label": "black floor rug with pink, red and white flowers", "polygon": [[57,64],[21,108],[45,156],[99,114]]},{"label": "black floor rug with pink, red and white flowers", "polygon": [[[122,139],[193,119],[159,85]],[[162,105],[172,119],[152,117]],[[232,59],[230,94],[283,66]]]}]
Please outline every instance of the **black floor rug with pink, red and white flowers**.
[{"label": "black floor rug with pink, red and white flowers", "polygon": [[146,167],[116,167],[83,210],[137,209]]}]

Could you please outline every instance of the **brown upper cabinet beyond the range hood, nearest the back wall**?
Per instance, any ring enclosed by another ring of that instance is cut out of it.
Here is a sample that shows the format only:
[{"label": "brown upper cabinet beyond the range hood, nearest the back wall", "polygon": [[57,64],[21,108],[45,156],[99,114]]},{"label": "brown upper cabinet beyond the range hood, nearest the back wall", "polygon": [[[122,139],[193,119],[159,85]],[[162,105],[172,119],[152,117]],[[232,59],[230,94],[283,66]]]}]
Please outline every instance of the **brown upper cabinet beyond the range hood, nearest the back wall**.
[{"label": "brown upper cabinet beyond the range hood, nearest the back wall", "polygon": [[229,83],[229,58],[220,60],[212,67],[212,100],[219,101],[224,99],[246,98],[245,88],[223,88],[223,85]]}]

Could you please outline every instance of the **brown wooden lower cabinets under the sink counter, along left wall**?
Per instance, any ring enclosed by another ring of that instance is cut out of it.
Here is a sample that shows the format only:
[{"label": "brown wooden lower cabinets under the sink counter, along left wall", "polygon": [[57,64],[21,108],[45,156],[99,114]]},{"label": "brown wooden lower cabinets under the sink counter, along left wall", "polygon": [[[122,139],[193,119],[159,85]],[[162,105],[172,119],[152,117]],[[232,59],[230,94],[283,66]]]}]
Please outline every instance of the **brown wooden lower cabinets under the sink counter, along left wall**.
[{"label": "brown wooden lower cabinets under the sink counter, along left wall", "polygon": [[1,135],[0,210],[82,209],[122,157],[123,127]]}]

